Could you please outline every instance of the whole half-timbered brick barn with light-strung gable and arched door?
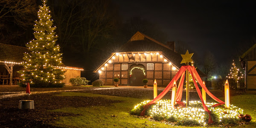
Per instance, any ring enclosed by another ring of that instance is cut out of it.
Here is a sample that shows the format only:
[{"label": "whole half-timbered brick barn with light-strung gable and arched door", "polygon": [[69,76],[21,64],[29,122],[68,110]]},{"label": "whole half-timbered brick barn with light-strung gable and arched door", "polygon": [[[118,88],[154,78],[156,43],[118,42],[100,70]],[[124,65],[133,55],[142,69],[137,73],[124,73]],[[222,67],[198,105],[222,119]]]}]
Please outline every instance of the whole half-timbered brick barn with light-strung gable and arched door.
[{"label": "whole half-timbered brick barn with light-strung gable and arched door", "polygon": [[107,85],[115,84],[114,78],[119,78],[117,84],[129,86],[143,86],[143,79],[153,85],[156,79],[157,85],[166,87],[181,66],[182,58],[175,52],[174,42],[165,45],[141,32],[133,35],[120,51],[94,70]]}]

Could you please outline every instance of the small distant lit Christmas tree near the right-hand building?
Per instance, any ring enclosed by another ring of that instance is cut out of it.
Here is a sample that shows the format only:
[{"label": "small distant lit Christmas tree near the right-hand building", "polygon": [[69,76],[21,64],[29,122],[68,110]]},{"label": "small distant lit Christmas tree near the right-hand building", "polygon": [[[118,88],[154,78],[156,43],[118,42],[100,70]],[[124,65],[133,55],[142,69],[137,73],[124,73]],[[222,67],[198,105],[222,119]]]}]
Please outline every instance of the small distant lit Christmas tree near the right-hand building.
[{"label": "small distant lit Christmas tree near the right-hand building", "polygon": [[244,76],[244,74],[241,74],[241,72],[239,72],[239,68],[236,67],[236,64],[233,60],[233,64],[230,69],[230,73],[226,77],[229,79],[234,79],[236,82],[239,82],[240,79],[244,78],[243,76]]}]

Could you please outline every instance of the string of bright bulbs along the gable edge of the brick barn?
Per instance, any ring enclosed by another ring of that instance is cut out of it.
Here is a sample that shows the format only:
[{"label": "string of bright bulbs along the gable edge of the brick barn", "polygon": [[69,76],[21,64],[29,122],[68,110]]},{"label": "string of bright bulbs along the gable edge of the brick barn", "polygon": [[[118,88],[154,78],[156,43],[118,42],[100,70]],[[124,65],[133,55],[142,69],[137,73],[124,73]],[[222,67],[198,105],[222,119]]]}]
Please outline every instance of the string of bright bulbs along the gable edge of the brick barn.
[{"label": "string of bright bulbs along the gable edge of the brick barn", "polygon": [[[134,56],[135,57],[135,55],[139,55],[139,57],[144,57],[144,58],[146,58],[146,56],[147,55],[151,55],[151,57],[152,57],[152,55],[159,55],[159,57],[160,58],[163,58],[163,62],[164,63],[168,63],[169,65],[173,65],[172,64],[172,62],[170,62],[167,58],[165,58],[165,57],[163,57],[163,55],[161,55],[161,53],[159,53],[159,52],[130,52],[130,53],[127,53],[127,52],[121,52],[121,53],[114,53],[114,55],[111,57],[111,58],[109,58],[106,62],[105,62],[105,64],[103,64],[101,67],[99,67],[99,69],[98,69],[98,73],[102,73],[102,70],[105,70],[105,67],[108,65],[108,64],[111,64],[111,63],[113,63],[114,62],[114,59],[116,58],[116,57],[120,57],[120,56],[122,56],[122,57],[125,57],[125,56],[127,56],[127,55],[129,55],[130,57],[131,56]],[[175,67],[175,66],[172,66],[172,70],[177,70],[177,68]],[[145,74],[144,74],[145,75]]]}]

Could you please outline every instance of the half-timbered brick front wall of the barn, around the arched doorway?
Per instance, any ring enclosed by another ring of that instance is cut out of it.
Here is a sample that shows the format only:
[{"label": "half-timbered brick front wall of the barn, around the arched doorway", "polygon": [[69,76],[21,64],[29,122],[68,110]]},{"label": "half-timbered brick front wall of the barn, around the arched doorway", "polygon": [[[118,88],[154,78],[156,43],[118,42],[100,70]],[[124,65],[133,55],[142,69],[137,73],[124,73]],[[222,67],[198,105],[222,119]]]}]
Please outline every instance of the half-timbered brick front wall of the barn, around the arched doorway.
[{"label": "half-timbered brick front wall of the barn, around the arched doorway", "polygon": [[[160,57],[160,54],[151,55],[150,53],[147,53],[145,55],[144,53],[141,53],[139,55],[135,53],[135,56],[133,54],[120,54],[113,57],[112,61],[112,64],[108,64],[105,67],[106,71],[102,70],[102,73],[99,75],[99,78],[104,81],[105,85],[115,84],[115,82],[113,82],[113,78],[119,78],[119,85],[128,85],[130,78],[129,70],[132,64],[139,63],[145,66],[148,85],[153,85],[154,79],[156,79],[157,85],[165,87],[171,81],[171,77],[173,78],[177,73],[177,70],[172,70],[172,65],[170,65],[169,62],[164,62],[164,57]],[[154,63],[154,70],[147,70],[147,63]],[[128,70],[122,70],[121,64],[128,64]]]}]

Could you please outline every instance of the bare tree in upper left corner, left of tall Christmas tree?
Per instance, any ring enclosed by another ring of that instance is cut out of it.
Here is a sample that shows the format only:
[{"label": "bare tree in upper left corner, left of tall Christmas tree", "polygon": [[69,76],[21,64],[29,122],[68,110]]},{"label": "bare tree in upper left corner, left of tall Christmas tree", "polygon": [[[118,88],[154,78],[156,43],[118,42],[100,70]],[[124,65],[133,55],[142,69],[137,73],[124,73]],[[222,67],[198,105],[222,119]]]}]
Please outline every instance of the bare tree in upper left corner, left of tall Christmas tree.
[{"label": "bare tree in upper left corner, left of tall Christmas tree", "polygon": [[0,41],[9,44],[23,35],[35,15],[35,0],[0,0]]}]

